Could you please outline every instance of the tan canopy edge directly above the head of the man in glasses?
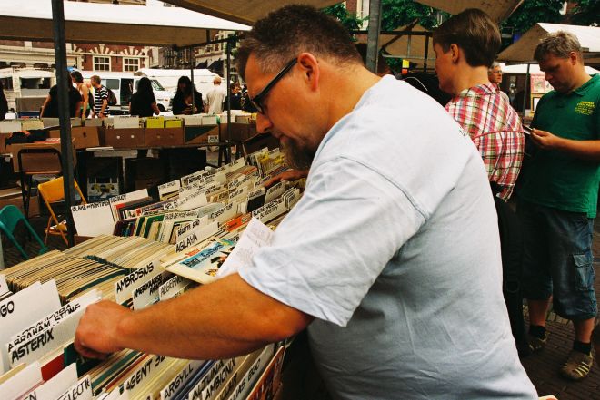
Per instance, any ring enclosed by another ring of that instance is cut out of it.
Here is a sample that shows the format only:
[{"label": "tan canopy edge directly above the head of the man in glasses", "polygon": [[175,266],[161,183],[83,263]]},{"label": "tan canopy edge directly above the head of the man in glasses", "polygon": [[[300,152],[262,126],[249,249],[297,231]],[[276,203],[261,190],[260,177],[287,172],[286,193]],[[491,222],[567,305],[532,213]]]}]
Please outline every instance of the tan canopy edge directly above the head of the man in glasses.
[{"label": "tan canopy edge directly above the head of the man in glasses", "polygon": [[240,24],[254,24],[256,20],[269,14],[271,11],[283,7],[302,3],[323,8],[328,5],[342,3],[340,0],[163,0],[165,3],[178,5],[199,13],[215,15]]}]

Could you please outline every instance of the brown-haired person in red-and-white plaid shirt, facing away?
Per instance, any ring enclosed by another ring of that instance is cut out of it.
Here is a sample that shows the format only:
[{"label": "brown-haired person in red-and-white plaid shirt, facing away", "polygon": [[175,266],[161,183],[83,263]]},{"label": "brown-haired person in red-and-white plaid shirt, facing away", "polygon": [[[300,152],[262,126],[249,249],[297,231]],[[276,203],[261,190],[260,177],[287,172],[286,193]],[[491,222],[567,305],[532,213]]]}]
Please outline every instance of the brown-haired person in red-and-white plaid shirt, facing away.
[{"label": "brown-haired person in red-and-white plaid shirt, facing away", "polygon": [[525,137],[508,96],[487,76],[500,44],[498,25],[477,9],[453,16],[434,32],[435,72],[440,88],[453,95],[445,109],[475,142],[497,196],[507,201],[521,170]]}]

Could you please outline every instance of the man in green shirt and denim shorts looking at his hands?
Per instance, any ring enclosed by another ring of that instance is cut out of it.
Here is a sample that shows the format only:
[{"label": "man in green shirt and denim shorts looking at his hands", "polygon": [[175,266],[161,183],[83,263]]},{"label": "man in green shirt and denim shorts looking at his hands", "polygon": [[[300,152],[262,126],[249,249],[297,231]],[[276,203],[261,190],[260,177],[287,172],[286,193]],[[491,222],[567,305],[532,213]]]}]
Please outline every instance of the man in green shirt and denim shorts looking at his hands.
[{"label": "man in green shirt and denim shorts looking at his hands", "polygon": [[524,161],[518,213],[524,224],[524,293],[529,304],[530,349],[545,346],[545,316],[573,321],[573,351],[561,374],[588,375],[597,312],[592,235],[600,183],[600,76],[585,73],[573,34],[548,34],[535,60],[555,88],[535,110],[535,150]]}]

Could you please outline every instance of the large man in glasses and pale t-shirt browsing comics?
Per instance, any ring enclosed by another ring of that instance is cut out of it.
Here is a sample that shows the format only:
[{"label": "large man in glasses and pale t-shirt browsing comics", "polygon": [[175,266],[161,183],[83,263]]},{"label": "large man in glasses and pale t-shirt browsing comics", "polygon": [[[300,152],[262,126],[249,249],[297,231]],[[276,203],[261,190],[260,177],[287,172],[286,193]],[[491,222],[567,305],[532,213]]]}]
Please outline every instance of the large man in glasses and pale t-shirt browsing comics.
[{"label": "large man in glasses and pale t-shirt browsing comics", "polygon": [[341,24],[289,5],[238,71],[305,194],[239,273],[131,311],[87,307],[85,356],[248,353],[307,327],[334,398],[537,399],[502,297],[495,207],[473,142],[433,99],[367,71]]}]

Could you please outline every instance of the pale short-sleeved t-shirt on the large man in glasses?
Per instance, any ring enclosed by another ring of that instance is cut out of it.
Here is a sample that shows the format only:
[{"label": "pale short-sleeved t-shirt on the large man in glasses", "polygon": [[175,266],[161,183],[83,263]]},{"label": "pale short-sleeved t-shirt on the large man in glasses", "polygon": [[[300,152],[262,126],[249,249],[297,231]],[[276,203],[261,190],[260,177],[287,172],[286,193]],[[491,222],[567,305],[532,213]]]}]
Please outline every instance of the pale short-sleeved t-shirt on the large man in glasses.
[{"label": "pale short-sleeved t-shirt on the large man in glasses", "polygon": [[537,398],[481,156],[391,76],[327,132],[304,197],[240,275],[316,318],[310,345],[334,398]]}]

